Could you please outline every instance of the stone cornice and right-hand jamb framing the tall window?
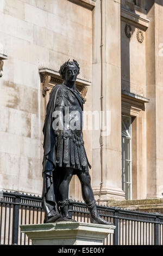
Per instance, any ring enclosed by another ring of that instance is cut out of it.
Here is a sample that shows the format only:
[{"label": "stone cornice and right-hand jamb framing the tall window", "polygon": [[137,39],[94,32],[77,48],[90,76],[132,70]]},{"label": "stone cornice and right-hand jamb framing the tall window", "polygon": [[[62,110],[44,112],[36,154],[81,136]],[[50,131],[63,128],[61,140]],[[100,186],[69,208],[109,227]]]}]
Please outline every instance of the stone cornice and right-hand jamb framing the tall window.
[{"label": "stone cornice and right-hand jamb framing the tall window", "polygon": [[122,91],[122,115],[132,118],[132,198],[137,199],[142,195],[143,180],[146,175],[146,120],[145,110],[149,99],[142,95]]}]

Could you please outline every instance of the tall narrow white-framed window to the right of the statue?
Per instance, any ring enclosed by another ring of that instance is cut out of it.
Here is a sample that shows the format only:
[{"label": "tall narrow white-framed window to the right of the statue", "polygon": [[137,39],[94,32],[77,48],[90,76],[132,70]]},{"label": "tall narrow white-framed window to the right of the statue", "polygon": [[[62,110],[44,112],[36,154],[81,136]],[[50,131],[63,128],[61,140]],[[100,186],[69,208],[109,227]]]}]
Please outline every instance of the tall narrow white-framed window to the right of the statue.
[{"label": "tall narrow white-framed window to the right of the statue", "polygon": [[122,189],[132,199],[131,117],[122,115]]}]

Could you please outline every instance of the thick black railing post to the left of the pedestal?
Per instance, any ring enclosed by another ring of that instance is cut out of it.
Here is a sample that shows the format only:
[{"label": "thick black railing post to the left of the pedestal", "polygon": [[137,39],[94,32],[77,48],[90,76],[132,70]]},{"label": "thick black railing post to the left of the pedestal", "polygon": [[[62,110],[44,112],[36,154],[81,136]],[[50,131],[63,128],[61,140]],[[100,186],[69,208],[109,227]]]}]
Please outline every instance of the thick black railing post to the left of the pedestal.
[{"label": "thick black railing post to the left of the pedestal", "polygon": [[12,245],[18,245],[18,222],[20,209],[20,193],[15,193],[12,217]]}]

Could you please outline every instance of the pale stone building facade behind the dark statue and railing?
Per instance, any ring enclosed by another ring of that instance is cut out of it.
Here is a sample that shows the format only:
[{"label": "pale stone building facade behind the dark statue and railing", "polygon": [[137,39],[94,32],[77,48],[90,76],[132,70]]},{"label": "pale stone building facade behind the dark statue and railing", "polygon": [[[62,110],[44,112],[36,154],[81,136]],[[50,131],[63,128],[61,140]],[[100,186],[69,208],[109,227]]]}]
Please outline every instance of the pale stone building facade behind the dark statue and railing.
[{"label": "pale stone building facade behind the dark statue and railing", "polygon": [[84,130],[96,200],[162,202],[162,1],[1,0],[0,13],[0,189],[41,195],[46,104],[70,58],[86,120],[103,112],[108,128]]}]

